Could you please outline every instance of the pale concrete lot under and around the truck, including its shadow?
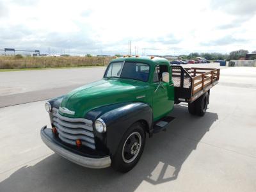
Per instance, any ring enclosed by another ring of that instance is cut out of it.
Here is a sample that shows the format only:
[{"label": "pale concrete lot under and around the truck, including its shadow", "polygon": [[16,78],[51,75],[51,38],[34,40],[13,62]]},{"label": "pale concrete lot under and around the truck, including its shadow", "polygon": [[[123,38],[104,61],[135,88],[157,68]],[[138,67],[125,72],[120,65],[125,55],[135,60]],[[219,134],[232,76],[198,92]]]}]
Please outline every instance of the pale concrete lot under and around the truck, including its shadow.
[{"label": "pale concrete lot under and around the truck, including its shadow", "polygon": [[205,116],[175,106],[169,129],[147,139],[126,174],[83,168],[47,148],[44,101],[0,108],[0,191],[256,191],[255,80],[253,67],[221,69]]}]

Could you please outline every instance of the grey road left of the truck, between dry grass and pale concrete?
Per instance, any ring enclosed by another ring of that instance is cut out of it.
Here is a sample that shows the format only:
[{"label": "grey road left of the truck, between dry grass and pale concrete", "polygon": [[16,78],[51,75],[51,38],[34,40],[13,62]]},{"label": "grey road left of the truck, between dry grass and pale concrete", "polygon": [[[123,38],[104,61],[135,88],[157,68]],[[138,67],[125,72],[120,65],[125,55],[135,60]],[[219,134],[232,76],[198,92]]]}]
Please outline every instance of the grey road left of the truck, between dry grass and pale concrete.
[{"label": "grey road left of the truck, between dry grass and pale concrete", "polygon": [[58,97],[101,79],[105,68],[0,72],[0,108]]}]

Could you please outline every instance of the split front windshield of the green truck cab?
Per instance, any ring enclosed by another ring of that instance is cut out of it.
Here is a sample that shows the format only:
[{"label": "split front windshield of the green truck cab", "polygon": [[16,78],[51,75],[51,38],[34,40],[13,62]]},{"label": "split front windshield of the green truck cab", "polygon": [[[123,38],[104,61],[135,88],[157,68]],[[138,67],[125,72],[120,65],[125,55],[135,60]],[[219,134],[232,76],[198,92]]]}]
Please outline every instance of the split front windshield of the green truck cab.
[{"label": "split front windshield of the green truck cab", "polygon": [[136,79],[148,81],[149,65],[134,62],[110,63],[105,77],[120,77],[125,79]]}]

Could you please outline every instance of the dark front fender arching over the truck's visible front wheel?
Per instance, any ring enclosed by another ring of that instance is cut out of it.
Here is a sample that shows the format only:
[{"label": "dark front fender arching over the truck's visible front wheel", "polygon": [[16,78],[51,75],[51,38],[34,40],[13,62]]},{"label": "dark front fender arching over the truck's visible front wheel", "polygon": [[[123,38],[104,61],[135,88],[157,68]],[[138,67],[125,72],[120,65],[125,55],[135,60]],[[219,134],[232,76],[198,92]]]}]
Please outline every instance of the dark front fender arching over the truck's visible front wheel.
[{"label": "dark front fender arching over the truck's visible front wheel", "polygon": [[147,125],[145,131],[149,131],[152,127],[152,108],[143,102],[125,102],[120,104],[112,104],[93,109],[86,114],[86,118],[93,120],[97,118],[104,120],[107,131],[103,134],[95,131],[95,141],[97,148],[104,150],[106,147],[109,154],[113,156],[118,145],[127,129],[138,121],[143,121]]}]

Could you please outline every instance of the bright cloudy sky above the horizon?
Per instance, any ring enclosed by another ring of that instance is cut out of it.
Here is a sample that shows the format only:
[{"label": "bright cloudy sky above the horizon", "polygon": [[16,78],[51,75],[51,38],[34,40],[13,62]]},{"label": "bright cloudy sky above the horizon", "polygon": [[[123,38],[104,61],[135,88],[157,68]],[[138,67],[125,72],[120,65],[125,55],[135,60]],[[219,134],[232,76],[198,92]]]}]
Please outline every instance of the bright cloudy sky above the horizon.
[{"label": "bright cloudy sky above the horizon", "polygon": [[255,0],[0,0],[0,49],[54,54],[256,50]]}]

